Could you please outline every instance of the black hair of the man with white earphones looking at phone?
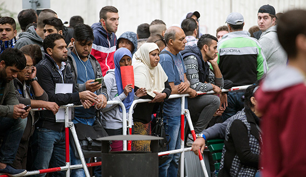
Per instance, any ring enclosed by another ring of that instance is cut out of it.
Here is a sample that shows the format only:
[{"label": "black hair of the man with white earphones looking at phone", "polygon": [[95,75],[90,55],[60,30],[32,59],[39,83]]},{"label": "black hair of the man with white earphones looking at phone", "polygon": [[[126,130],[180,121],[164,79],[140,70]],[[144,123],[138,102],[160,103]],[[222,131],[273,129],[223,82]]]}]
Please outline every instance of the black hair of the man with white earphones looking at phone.
[{"label": "black hair of the man with white earphones looking at phone", "polygon": [[78,42],[85,41],[85,43],[89,41],[93,41],[95,37],[93,36],[93,30],[89,25],[85,24],[77,24],[74,28],[74,39]]}]

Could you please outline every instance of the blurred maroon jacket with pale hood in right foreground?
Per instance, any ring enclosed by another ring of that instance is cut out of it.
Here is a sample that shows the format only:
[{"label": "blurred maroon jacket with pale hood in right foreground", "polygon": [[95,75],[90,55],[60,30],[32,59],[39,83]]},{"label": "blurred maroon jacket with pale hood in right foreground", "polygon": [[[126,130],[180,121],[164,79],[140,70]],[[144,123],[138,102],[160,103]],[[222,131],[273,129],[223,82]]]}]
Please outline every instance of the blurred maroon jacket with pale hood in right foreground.
[{"label": "blurred maroon jacket with pale hood in right foreground", "polygon": [[306,174],[306,77],[296,68],[270,72],[255,97],[263,113],[262,176],[304,177]]}]

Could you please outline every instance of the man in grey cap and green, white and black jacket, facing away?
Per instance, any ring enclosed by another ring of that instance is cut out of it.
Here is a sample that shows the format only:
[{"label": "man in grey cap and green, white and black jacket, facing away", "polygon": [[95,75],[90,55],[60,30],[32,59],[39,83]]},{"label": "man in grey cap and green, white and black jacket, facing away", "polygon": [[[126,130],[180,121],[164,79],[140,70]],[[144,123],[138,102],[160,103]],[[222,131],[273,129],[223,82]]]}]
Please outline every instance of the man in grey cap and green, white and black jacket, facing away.
[{"label": "man in grey cap and green, white and black jacket, facing away", "polygon": [[[226,20],[229,33],[218,43],[218,64],[224,80],[233,86],[256,83],[268,72],[264,51],[259,42],[243,31],[244,19],[238,12],[230,13]],[[223,121],[243,108],[241,96],[244,92],[229,92],[228,107],[222,114]]]}]

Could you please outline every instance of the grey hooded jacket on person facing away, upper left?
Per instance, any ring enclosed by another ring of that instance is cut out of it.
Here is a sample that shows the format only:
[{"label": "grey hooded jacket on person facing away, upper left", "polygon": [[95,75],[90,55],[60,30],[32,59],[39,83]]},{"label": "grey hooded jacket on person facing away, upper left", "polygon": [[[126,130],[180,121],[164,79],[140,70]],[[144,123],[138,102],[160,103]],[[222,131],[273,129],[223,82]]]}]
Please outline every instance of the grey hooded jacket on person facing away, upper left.
[{"label": "grey hooded jacket on person facing away, upper left", "polygon": [[35,27],[31,26],[26,32],[20,33],[15,48],[20,49],[21,47],[28,44],[38,44],[40,47],[42,47],[42,41],[43,39],[38,36]]}]

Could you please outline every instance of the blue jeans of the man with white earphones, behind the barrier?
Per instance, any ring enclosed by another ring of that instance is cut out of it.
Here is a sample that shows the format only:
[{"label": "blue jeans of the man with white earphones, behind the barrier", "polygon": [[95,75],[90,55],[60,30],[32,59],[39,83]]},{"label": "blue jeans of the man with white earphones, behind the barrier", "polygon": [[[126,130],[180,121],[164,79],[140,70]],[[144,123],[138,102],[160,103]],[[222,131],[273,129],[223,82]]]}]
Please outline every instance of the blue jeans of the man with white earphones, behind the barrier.
[{"label": "blue jeans of the man with white earphones, behind the barrier", "polygon": [[[75,117],[75,119],[72,122],[74,124],[81,123],[81,124],[92,126],[95,120],[96,118],[81,119],[81,118]],[[85,159],[86,163],[89,163],[89,161],[90,161],[90,158]],[[81,164],[81,160],[76,158],[75,153],[73,152],[72,148],[70,148],[70,162],[71,162],[71,165]],[[72,170],[71,177],[85,177],[84,169]]]}]

